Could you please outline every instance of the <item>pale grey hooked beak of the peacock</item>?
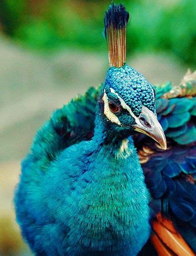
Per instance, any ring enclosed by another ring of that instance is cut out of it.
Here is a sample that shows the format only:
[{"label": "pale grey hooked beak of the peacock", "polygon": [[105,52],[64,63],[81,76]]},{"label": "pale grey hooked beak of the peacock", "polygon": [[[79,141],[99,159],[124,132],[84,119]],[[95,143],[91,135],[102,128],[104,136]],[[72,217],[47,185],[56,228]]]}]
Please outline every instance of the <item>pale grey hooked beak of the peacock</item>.
[{"label": "pale grey hooked beak of the peacock", "polygon": [[165,134],[156,115],[147,107],[142,106],[142,112],[134,125],[135,131],[146,134],[158,142],[163,149],[167,148]]}]

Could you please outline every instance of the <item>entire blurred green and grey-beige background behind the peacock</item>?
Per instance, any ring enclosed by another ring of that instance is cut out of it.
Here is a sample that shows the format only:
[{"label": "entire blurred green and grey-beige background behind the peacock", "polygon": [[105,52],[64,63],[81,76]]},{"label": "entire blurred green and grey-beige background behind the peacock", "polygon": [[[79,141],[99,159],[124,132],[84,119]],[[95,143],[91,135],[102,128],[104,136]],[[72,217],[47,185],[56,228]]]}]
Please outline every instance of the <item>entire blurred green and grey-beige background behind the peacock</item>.
[{"label": "entire blurred green and grey-beige background behind the peacock", "polygon": [[[132,17],[127,62],[154,84],[178,84],[196,67],[196,0],[123,2]],[[12,203],[20,162],[55,108],[104,80],[109,3],[0,0],[0,256],[32,255]]]}]

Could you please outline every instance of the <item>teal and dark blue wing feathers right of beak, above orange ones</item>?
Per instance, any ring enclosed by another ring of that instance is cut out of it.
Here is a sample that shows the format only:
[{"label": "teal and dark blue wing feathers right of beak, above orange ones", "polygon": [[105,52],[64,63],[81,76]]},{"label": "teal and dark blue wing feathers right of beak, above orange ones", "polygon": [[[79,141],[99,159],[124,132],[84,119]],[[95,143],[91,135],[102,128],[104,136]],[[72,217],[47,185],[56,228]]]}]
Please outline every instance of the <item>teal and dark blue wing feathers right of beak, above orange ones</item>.
[{"label": "teal and dark blue wing feathers right of beak, above orange ones", "polygon": [[135,137],[152,196],[152,218],[162,212],[196,252],[196,98],[164,99],[160,91],[158,95],[157,117],[167,150],[145,135]]}]

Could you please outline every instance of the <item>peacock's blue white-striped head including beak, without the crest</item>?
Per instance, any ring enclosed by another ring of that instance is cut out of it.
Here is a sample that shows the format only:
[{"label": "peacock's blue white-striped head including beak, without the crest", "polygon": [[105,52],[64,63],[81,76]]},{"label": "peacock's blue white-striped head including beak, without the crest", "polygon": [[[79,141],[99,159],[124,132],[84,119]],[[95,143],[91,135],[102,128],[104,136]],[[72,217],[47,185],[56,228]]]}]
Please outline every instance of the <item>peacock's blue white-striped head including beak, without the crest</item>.
[{"label": "peacock's blue white-striped head including beak, without the crest", "polygon": [[141,132],[166,147],[156,118],[155,89],[133,67],[124,64],[108,69],[100,92],[99,113],[108,137],[124,139]]}]

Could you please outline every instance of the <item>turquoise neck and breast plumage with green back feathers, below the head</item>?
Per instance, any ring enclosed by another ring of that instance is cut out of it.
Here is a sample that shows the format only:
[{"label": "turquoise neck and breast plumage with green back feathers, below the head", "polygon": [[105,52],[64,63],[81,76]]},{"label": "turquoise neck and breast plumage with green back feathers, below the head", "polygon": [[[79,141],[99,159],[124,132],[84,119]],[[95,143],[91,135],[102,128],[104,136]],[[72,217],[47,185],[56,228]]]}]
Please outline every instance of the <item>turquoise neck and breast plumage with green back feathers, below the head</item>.
[{"label": "turquoise neck and breast plumage with green back feathers, below the head", "polygon": [[98,115],[95,136],[82,141],[96,97],[90,89],[54,112],[22,163],[17,219],[38,255],[136,255],[149,238],[150,195],[132,139],[131,156],[116,157],[120,145],[103,146]]}]

